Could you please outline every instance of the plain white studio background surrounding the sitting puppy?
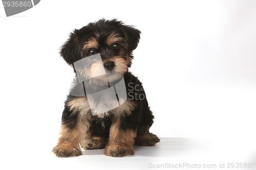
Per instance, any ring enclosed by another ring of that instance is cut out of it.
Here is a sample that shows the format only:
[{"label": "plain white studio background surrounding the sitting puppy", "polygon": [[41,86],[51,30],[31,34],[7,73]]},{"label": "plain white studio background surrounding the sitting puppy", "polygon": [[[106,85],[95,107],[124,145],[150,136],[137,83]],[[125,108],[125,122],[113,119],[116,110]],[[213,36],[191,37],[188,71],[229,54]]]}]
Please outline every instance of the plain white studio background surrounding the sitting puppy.
[{"label": "plain white studio background surrounding the sitting puppy", "polygon": [[[142,32],[130,71],[161,142],[130,157],[57,158],[51,150],[74,77],[59,47],[101,18]],[[256,1],[41,1],[12,17],[0,7],[0,24],[1,169],[255,162]]]}]

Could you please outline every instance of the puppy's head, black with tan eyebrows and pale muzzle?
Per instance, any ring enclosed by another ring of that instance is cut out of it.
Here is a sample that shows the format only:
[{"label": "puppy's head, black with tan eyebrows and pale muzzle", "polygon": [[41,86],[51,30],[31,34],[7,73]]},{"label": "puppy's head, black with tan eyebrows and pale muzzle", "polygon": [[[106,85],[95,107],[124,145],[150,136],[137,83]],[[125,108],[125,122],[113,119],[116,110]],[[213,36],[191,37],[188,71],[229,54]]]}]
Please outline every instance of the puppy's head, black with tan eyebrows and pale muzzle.
[{"label": "puppy's head, black with tan eyebrows and pale muzzle", "polygon": [[139,39],[140,31],[132,26],[125,26],[117,19],[101,19],[74,30],[62,45],[60,55],[68,64],[72,64],[100,54],[102,61],[95,61],[90,68],[81,70],[80,74],[87,77],[101,75],[102,72],[124,75],[132,64],[132,52]]}]

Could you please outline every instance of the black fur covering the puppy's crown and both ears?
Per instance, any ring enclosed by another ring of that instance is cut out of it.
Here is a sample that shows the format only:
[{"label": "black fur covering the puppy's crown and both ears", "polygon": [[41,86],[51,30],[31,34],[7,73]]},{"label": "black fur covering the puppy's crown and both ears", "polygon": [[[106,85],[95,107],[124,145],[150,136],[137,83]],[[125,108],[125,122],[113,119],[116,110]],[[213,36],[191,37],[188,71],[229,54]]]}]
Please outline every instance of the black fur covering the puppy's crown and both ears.
[{"label": "black fur covering the puppy's crown and both ears", "polygon": [[[125,38],[122,44],[127,48],[127,53],[129,53],[130,57],[133,58],[131,52],[137,47],[141,32],[132,26],[123,25],[123,23],[117,19],[101,19],[97,22],[89,23],[80,30],[75,29],[73,33],[70,34],[68,41],[61,46],[60,55],[68,64],[72,64],[85,56],[85,54],[82,54],[82,45],[84,42],[87,42],[90,37],[100,37],[99,43],[103,44],[102,40],[113,32]],[[100,49],[99,52],[101,57],[104,57],[106,51],[104,46],[102,48],[103,49]]]}]

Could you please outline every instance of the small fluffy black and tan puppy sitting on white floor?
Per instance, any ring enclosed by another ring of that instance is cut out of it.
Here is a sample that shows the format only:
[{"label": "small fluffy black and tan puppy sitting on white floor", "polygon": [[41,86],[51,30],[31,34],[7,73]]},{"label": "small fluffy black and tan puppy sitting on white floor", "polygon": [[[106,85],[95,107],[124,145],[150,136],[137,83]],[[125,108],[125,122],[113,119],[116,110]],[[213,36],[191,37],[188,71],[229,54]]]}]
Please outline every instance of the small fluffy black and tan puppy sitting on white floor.
[{"label": "small fluffy black and tan puppy sitting on white floor", "polygon": [[[142,84],[128,72],[139,39],[139,30],[116,19],[101,19],[70,34],[61,47],[63,59],[72,65],[80,59],[100,54],[106,72],[123,76],[127,100],[115,109],[92,115],[86,94],[78,97],[70,93],[62,113],[61,136],[53,149],[56,156],[81,155],[80,146],[84,149],[104,148],[106,156],[133,155],[134,144],[150,146],[160,141],[149,132],[154,116]],[[90,77],[97,71],[100,70],[96,64],[79,74]]]}]

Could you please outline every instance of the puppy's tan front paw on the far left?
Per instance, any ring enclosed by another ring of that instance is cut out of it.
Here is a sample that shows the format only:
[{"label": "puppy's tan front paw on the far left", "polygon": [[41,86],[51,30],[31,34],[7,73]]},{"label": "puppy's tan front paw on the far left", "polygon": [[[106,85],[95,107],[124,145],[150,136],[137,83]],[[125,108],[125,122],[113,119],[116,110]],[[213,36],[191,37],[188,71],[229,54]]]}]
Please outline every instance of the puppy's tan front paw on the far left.
[{"label": "puppy's tan front paw on the far left", "polygon": [[56,145],[56,147],[53,148],[52,152],[57,157],[70,157],[82,155],[82,152],[79,151],[78,149],[75,149],[74,147],[65,144]]}]

